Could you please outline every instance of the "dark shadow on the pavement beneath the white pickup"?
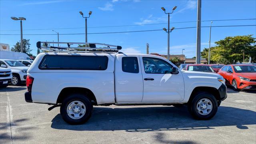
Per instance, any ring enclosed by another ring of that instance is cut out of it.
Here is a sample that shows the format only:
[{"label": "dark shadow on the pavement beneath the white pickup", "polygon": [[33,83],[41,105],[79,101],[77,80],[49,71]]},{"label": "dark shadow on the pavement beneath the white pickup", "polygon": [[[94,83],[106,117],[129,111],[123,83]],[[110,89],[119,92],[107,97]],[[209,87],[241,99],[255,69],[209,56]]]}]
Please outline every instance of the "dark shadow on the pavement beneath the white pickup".
[{"label": "dark shadow on the pavement beneath the white pickup", "polygon": [[127,132],[204,130],[216,126],[236,126],[248,129],[244,125],[256,124],[256,112],[240,108],[220,106],[211,120],[194,120],[187,107],[141,107],[108,108],[95,107],[92,117],[82,125],[69,125],[58,114],[52,119],[54,129],[114,131]]}]

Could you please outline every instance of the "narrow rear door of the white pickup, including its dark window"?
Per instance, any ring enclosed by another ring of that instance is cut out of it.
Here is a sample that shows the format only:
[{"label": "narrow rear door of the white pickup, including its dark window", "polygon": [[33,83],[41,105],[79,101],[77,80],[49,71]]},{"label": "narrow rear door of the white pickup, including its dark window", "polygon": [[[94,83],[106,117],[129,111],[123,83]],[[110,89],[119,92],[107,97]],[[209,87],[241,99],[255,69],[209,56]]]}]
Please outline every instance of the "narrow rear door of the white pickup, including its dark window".
[{"label": "narrow rear door of the white pickup, including its dark window", "polygon": [[117,56],[114,73],[116,102],[141,102],[143,96],[143,80],[139,56]]}]

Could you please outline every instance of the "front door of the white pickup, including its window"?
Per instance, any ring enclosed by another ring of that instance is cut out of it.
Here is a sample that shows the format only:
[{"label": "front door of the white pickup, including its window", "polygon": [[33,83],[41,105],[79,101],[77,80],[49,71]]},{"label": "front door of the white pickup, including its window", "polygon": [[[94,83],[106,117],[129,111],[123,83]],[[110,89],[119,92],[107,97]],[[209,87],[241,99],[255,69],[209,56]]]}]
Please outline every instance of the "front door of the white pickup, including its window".
[{"label": "front door of the white pickup, including its window", "polygon": [[180,102],[184,99],[181,72],[171,74],[172,64],[157,57],[140,56],[144,82],[142,102]]}]

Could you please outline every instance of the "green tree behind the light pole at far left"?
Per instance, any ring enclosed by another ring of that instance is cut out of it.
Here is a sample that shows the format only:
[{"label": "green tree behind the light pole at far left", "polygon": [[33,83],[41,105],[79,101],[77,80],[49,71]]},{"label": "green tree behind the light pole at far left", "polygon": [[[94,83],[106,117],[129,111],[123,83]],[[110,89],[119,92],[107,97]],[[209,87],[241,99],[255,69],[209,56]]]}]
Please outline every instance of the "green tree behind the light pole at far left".
[{"label": "green tree behind the light pole at far left", "polygon": [[[32,51],[30,49],[30,43],[29,40],[27,39],[23,39],[22,40],[22,50],[24,53],[28,54],[28,56],[33,56],[30,52]],[[17,42],[16,45],[14,45],[14,47],[11,48],[11,51],[13,52],[20,52],[20,42]]]}]

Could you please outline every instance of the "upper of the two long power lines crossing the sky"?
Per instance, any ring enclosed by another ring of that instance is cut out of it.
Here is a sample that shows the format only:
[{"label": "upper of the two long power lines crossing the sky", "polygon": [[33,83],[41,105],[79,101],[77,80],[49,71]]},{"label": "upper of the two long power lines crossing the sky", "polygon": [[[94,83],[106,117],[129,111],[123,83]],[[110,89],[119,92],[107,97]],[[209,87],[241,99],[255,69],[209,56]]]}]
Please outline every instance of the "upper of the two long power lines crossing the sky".
[{"label": "upper of the two long power lines crossing the sky", "polygon": [[[256,18],[229,19],[229,20],[203,20],[202,22],[210,22],[210,21],[231,21],[231,20],[256,20]],[[170,22],[170,24],[188,23],[188,22],[196,22],[196,21]],[[146,26],[146,25],[158,25],[158,24],[168,24],[168,23],[132,24],[132,25],[120,25],[120,26],[93,26],[93,27],[87,27],[87,28],[110,28],[110,27],[124,27],[124,26]],[[63,30],[63,29],[80,29],[80,28],[84,28],[84,27],[78,27],[78,28],[41,28],[41,29],[25,29],[25,30]],[[19,31],[19,30],[0,30],[0,31]]]}]

